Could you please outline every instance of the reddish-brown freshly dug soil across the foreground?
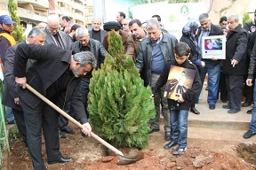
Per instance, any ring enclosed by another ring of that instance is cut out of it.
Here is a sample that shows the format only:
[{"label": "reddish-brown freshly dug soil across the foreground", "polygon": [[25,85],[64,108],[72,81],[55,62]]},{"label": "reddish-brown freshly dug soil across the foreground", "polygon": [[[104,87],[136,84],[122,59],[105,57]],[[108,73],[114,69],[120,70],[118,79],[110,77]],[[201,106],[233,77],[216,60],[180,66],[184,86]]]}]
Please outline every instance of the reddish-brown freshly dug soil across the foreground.
[{"label": "reddish-brown freshly dug soil across the foreground", "polygon": [[[82,137],[79,128],[70,124],[76,130],[75,135],[68,135],[66,139],[60,139],[60,151],[64,157],[72,157],[73,160],[66,164],[48,165],[44,156],[45,165],[49,170],[252,170],[254,165],[256,145],[245,143],[210,141],[203,139],[188,139],[188,150],[179,156],[173,156],[171,150],[164,150],[167,143],[161,133],[150,135],[148,147],[144,150],[144,158],[134,164],[117,166],[117,156],[108,156],[107,149],[92,137]],[[45,154],[44,144],[42,144]],[[8,158],[8,167],[3,169],[32,170],[32,163],[28,151],[21,143],[20,138],[11,142],[12,154]],[[120,149],[121,150],[121,149]],[[236,152],[238,151],[238,153]],[[124,150],[122,150],[124,151]],[[246,154],[245,154],[246,152]],[[126,154],[123,152],[124,155]],[[238,157],[243,157],[243,158]],[[246,156],[244,156],[246,155]]]}]

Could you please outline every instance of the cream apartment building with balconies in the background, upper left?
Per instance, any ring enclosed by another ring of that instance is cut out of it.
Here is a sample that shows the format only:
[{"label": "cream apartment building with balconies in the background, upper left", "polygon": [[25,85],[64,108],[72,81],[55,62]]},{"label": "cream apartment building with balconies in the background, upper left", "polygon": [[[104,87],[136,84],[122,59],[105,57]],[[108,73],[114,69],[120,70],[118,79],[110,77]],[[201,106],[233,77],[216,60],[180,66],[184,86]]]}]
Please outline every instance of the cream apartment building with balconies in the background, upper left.
[{"label": "cream apartment building with balconies in the background, upper left", "polygon": [[[93,7],[86,0],[17,0],[17,13],[24,27],[46,22],[50,13],[67,15],[73,23],[91,27]],[[0,15],[8,14],[8,0],[0,0]]]}]

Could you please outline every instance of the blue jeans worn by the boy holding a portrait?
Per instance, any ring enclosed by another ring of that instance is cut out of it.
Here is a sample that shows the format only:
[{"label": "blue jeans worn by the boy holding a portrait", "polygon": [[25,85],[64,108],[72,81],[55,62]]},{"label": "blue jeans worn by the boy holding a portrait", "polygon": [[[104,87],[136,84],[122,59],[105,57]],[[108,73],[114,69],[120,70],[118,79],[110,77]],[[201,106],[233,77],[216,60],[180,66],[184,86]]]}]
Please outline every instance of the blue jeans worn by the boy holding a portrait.
[{"label": "blue jeans worn by the boy holding a portrait", "polygon": [[181,148],[187,147],[188,138],[188,111],[170,110],[171,134],[173,143],[178,143]]}]

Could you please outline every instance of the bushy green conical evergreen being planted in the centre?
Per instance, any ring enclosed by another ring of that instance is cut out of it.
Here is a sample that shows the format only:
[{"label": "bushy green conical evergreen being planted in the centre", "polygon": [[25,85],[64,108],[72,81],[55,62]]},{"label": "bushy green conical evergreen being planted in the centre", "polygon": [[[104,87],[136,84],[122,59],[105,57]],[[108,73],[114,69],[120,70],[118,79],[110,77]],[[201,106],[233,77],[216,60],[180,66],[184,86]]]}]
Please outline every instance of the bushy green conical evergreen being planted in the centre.
[{"label": "bushy green conical evergreen being planted in the centre", "polygon": [[144,148],[148,122],[155,117],[151,89],[145,88],[132,58],[124,55],[121,36],[111,31],[109,55],[92,72],[88,110],[94,130],[116,147]]}]

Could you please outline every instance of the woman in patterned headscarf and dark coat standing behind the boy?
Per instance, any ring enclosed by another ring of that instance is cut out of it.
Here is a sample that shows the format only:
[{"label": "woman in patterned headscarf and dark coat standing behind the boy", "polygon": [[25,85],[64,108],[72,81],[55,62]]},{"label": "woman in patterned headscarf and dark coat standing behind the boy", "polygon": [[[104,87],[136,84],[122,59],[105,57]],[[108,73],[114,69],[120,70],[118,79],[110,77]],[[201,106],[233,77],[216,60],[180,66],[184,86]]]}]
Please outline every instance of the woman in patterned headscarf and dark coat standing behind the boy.
[{"label": "woman in patterned headscarf and dark coat standing behind the boy", "polygon": [[[198,71],[200,71],[200,67],[204,67],[205,64],[204,64],[204,61],[201,61],[200,48],[195,38],[198,27],[199,25],[196,22],[188,22],[182,28],[182,36],[180,38],[180,42],[188,43],[188,46],[190,47],[190,56],[188,59],[193,64],[195,64],[198,68]],[[190,112],[194,112],[195,114],[200,114],[200,112],[196,110],[195,102],[191,104]]]}]

